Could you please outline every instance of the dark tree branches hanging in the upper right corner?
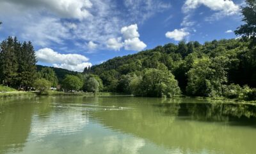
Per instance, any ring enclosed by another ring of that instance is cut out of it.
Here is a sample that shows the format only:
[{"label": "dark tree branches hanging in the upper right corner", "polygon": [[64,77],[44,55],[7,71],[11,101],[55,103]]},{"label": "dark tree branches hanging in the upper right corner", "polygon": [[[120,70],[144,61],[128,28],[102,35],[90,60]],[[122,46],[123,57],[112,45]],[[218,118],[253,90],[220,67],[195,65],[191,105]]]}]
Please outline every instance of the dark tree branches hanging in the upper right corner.
[{"label": "dark tree branches hanging in the upper right corner", "polygon": [[241,35],[243,38],[250,38],[252,40],[251,46],[255,46],[256,43],[256,1],[246,0],[246,6],[242,8],[244,25],[237,27],[235,33]]}]

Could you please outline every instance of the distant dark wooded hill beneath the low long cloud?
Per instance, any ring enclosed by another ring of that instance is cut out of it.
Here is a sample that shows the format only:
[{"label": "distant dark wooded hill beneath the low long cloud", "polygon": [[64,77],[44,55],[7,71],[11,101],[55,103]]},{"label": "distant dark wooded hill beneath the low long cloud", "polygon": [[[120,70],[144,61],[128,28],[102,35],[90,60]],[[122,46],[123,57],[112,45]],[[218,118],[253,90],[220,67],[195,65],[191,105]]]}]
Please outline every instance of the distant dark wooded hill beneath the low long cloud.
[{"label": "distant dark wooded hill beneath the low long cloud", "polygon": [[[45,67],[48,67],[48,66],[36,65],[36,70],[39,72],[39,71],[41,71]],[[65,78],[65,76],[67,74],[69,74],[69,75],[76,75],[77,74],[77,72],[69,71],[67,69],[61,69],[61,68],[56,68],[56,67],[50,67],[50,68],[55,72],[55,74],[56,74],[56,76],[58,78],[58,81],[60,81],[60,82]]]}]

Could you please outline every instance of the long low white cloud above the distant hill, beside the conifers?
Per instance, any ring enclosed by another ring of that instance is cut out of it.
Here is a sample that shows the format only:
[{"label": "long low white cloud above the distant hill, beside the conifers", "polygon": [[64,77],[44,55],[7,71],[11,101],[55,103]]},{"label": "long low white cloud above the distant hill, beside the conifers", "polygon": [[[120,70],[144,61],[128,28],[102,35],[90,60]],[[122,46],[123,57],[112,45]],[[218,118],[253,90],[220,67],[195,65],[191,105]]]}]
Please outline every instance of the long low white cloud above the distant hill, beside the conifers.
[{"label": "long low white cloud above the distant hill, beside the conifers", "polygon": [[84,67],[92,66],[92,63],[88,62],[89,59],[83,55],[61,54],[51,48],[36,51],[36,59],[70,71],[82,72]]}]

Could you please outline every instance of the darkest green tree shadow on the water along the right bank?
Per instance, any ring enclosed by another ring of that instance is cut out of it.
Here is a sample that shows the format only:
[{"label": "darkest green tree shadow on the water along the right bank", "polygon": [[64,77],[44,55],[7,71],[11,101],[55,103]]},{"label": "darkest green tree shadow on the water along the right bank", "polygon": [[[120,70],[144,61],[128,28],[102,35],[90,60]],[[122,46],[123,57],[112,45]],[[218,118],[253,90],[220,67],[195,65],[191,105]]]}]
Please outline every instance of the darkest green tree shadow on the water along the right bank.
[{"label": "darkest green tree shadow on the water along the right bank", "polygon": [[220,122],[228,125],[256,127],[256,106],[226,102],[178,102],[153,104],[164,115],[177,116],[181,120]]}]

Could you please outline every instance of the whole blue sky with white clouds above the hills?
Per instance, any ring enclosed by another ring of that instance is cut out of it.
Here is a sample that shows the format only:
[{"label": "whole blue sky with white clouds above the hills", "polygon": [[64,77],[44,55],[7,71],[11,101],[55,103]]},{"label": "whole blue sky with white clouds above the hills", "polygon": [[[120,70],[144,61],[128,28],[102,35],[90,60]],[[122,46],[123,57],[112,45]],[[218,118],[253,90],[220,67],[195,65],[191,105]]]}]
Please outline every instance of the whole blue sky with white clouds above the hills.
[{"label": "whole blue sky with white clouds above the hills", "polygon": [[236,38],[244,0],[1,0],[0,39],[32,41],[38,64],[83,71],[166,43]]}]

